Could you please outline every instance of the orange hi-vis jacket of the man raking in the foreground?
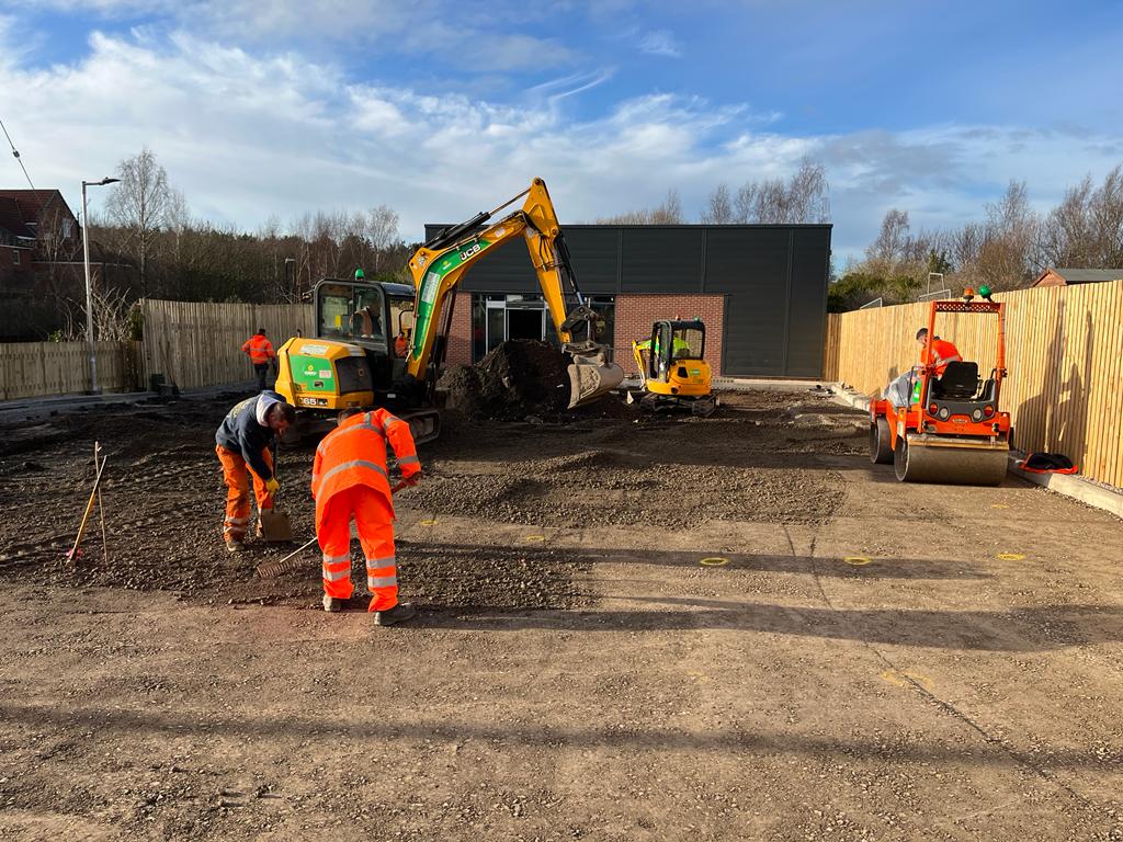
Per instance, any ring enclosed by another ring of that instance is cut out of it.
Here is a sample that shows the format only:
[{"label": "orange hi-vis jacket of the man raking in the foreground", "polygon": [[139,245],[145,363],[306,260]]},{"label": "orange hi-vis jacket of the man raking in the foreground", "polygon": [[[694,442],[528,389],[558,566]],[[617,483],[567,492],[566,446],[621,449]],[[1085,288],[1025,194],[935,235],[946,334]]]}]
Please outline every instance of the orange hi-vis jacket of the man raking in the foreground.
[{"label": "orange hi-vis jacket of the man raking in the foreground", "polygon": [[390,474],[386,470],[386,441],[398,457],[403,478],[421,470],[409,423],[385,410],[351,415],[323,437],[312,463],[317,530],[331,496],[356,485],[381,491],[393,512]]}]

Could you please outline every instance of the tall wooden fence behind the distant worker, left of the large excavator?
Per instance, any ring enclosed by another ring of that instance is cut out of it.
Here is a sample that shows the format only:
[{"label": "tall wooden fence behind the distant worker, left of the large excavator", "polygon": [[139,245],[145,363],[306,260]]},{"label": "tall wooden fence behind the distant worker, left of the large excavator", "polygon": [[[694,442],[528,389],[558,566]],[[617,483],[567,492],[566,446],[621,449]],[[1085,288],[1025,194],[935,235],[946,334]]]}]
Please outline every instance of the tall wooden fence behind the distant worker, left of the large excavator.
[{"label": "tall wooden fence behind the distant worker, left of the large excavator", "polygon": [[274,348],[296,336],[314,336],[310,304],[214,304],[140,302],[144,317],[141,370],[147,388],[154,374],[180,388],[239,383],[254,369],[243,350],[257,328]]}]

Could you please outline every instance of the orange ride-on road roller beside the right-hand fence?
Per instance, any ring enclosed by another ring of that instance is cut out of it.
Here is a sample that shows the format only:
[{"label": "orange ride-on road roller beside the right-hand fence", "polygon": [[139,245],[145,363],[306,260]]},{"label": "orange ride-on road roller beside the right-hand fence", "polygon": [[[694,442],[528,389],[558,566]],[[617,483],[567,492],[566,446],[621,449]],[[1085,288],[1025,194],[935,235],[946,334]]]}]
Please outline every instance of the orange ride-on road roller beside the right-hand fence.
[{"label": "orange ride-on road roller beside the right-hand fence", "polygon": [[998,409],[1005,368],[1005,304],[990,301],[986,287],[982,301],[967,290],[964,299],[933,301],[929,306],[928,336],[935,337],[938,313],[971,313],[998,318],[998,344],[994,368],[979,377],[978,363],[948,363],[937,373],[932,342],[925,342],[909,406],[878,400],[869,405],[869,458],[893,463],[903,483],[998,485],[1006,476],[1011,447],[1010,413]]}]

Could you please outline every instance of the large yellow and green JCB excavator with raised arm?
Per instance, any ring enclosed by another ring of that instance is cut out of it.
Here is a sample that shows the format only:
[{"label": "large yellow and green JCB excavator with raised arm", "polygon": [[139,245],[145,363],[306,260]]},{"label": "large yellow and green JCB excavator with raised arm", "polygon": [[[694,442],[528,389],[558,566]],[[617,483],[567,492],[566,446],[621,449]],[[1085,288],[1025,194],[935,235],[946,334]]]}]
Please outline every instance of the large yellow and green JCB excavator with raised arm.
[{"label": "large yellow and green JCB excavator with raised arm", "polygon": [[[521,208],[497,221],[502,210]],[[596,342],[596,313],[577,286],[569,250],[541,179],[491,211],[438,231],[409,260],[412,284],[325,278],[317,284],[317,335],[277,351],[276,391],[296,406],[298,428],[330,427],[349,406],[381,405],[409,421],[418,443],[440,434],[436,385],[445,359],[456,287],[472,266],[515,238],[526,241],[562,351],[569,358],[569,408],[623,381]],[[300,423],[303,421],[303,423]]]}]

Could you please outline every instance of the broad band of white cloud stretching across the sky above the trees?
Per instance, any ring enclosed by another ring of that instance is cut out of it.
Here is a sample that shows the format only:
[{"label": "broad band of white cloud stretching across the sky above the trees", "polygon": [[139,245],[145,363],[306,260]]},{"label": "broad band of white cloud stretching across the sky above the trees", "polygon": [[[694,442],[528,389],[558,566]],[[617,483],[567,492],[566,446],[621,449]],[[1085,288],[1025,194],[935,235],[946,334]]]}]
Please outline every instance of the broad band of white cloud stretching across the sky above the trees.
[{"label": "broad band of white cloud stretching across the sky above the trees", "polygon": [[[563,221],[654,207],[668,187],[696,217],[719,183],[783,176],[811,155],[827,166],[834,249],[846,255],[860,251],[891,207],[916,226],[957,225],[980,217],[1013,177],[1044,208],[1085,172],[1098,176],[1123,158],[1117,138],[1067,130],[797,137],[748,107],[669,94],[575,121],[559,94],[594,83],[595,72],[497,104],[358,83],[299,53],[184,33],[94,35],[80,64],[48,68],[29,67],[13,38],[0,19],[0,115],[37,185],[73,202],[82,179],[147,145],[194,212],[246,228],[274,214],[385,203],[418,239],[424,222],[467,218],[539,175]],[[16,162],[0,157],[0,184],[21,182]]]}]

